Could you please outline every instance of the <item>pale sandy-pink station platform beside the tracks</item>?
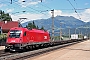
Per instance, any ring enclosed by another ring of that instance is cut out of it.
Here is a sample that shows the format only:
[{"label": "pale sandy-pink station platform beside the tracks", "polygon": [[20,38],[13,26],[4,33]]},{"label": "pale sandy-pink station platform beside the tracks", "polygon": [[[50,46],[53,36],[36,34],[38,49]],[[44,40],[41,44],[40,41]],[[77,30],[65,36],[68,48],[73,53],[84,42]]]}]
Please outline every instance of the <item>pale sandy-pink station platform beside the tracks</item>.
[{"label": "pale sandy-pink station platform beside the tracks", "polygon": [[90,40],[60,48],[26,60],[90,60]]}]

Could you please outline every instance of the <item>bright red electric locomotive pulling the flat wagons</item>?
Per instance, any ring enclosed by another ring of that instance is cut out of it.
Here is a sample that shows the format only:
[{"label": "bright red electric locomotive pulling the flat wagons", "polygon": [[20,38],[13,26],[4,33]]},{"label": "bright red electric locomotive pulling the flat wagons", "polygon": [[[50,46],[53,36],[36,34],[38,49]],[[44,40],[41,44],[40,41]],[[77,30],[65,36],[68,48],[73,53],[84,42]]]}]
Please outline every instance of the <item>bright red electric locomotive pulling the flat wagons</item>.
[{"label": "bright red electric locomotive pulling the flat wagons", "polygon": [[47,31],[38,29],[29,30],[23,27],[14,27],[8,32],[5,51],[23,50],[48,42],[50,42],[50,36]]}]

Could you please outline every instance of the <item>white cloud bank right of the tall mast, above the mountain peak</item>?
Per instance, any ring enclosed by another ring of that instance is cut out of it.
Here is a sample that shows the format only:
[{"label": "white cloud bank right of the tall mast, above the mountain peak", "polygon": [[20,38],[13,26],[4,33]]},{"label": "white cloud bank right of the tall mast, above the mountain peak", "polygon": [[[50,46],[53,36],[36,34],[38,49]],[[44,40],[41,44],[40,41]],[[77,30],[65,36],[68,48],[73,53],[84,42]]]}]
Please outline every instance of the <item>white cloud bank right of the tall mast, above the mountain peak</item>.
[{"label": "white cloud bank right of the tall mast, above the mountain peak", "polygon": [[[51,15],[51,12],[49,12],[49,14]],[[59,16],[73,16],[81,21],[90,22],[90,9],[85,9],[84,11],[79,12],[78,14],[75,12],[66,13],[66,12],[62,12],[61,10],[55,10],[54,16],[57,16],[57,15],[59,15]]]}]

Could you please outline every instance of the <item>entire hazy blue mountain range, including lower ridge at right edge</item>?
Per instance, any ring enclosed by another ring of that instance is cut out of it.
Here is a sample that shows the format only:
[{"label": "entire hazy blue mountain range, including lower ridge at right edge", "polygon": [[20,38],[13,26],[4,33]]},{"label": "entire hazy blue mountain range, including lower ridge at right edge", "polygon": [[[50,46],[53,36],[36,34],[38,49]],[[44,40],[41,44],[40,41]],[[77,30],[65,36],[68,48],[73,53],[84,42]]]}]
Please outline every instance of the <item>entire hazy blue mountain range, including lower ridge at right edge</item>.
[{"label": "entire hazy blue mountain range, including lower ridge at right edge", "polygon": [[[32,21],[29,21],[32,22]],[[38,19],[34,20],[35,24],[41,28],[42,26],[51,32],[52,29],[52,18],[48,19]],[[22,24],[22,26],[26,26],[28,22]],[[54,17],[54,31],[60,32],[60,26],[62,31],[68,34],[68,29],[70,28],[72,33],[75,32],[75,29],[82,29],[86,26],[90,26],[90,22],[85,23],[79,19],[74,18],[73,16],[56,16]],[[84,29],[83,29],[84,30]],[[85,31],[85,30],[84,30]],[[77,32],[79,33],[79,32]]]}]

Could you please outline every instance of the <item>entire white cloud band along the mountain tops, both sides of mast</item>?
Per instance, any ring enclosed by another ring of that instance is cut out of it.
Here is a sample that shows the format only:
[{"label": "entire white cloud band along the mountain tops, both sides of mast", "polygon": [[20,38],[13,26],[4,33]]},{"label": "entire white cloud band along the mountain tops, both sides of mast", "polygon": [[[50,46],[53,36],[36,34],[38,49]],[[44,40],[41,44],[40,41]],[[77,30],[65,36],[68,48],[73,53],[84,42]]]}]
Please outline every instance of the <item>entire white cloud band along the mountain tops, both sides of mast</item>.
[{"label": "entire white cloud band along the mountain tops, both sides of mast", "polygon": [[[84,22],[89,22],[90,21],[90,9],[86,9],[83,12],[78,13],[79,16],[77,15],[77,13],[65,13],[62,12],[61,10],[54,10],[54,17],[55,16],[73,16],[77,19],[80,19]],[[52,16],[51,11],[49,11],[46,15],[45,14],[36,14],[36,13],[24,13],[24,14],[19,14],[19,15],[11,15],[11,17],[13,18],[13,21],[17,21],[19,20],[19,18],[27,18],[26,20],[22,21],[22,23],[30,21],[30,20],[37,20],[37,19],[47,19],[50,18]]]}]

